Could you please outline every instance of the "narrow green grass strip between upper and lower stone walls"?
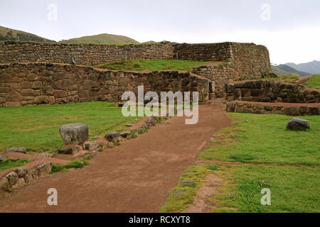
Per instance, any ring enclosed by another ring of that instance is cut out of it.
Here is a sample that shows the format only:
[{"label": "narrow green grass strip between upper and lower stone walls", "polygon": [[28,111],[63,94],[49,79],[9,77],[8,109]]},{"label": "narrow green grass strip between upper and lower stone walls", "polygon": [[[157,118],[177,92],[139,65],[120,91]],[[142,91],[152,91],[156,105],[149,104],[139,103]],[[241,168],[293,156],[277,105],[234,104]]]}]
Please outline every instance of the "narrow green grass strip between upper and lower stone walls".
[{"label": "narrow green grass strip between upper and lower stone walls", "polygon": [[128,60],[111,62],[101,65],[101,68],[109,70],[124,71],[160,71],[160,70],[179,70],[191,72],[193,67],[206,65],[208,62],[196,62],[191,60]]}]

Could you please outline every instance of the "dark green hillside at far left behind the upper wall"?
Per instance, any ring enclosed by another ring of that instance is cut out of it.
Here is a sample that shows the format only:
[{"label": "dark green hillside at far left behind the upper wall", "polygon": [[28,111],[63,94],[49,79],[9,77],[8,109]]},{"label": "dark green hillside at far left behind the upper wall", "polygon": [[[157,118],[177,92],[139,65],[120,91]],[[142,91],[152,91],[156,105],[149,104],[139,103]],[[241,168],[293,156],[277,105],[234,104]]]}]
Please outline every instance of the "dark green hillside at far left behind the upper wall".
[{"label": "dark green hillside at far left behind the upper wall", "polygon": [[39,43],[55,43],[54,40],[48,40],[38,35],[0,26],[0,41],[6,41],[6,40],[24,41],[24,42],[32,41],[32,42],[39,42]]}]

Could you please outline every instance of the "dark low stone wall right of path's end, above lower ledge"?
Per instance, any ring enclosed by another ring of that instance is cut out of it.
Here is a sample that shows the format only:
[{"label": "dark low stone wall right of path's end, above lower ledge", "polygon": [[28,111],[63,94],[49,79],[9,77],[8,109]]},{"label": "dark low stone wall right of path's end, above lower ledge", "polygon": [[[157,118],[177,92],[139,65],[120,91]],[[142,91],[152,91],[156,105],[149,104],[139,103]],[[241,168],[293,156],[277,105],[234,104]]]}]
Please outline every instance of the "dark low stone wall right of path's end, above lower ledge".
[{"label": "dark low stone wall right of path's end, above lower ledge", "polygon": [[262,101],[286,103],[319,103],[320,94],[299,84],[284,84],[273,80],[255,80],[225,84],[228,101]]}]

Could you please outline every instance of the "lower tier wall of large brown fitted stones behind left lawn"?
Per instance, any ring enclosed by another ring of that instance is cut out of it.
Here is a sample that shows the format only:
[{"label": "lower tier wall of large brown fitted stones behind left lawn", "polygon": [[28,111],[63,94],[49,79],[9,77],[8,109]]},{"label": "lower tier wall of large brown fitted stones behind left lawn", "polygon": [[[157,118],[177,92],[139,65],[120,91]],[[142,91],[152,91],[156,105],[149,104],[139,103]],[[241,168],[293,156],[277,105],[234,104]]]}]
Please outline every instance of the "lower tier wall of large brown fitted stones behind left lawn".
[{"label": "lower tier wall of large brown fitted stones behind left lawn", "polygon": [[210,81],[190,72],[121,72],[79,65],[0,65],[0,106],[120,101],[123,92],[198,91],[208,101]]}]

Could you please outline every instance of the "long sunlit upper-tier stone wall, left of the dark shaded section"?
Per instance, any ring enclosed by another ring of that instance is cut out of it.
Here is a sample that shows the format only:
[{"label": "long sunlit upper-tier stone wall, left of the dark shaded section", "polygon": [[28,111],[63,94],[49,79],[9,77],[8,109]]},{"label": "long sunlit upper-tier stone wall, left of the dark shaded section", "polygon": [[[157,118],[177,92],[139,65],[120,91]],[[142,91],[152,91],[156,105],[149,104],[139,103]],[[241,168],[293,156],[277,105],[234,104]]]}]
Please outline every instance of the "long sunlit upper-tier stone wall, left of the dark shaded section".
[{"label": "long sunlit upper-tier stone wall, left of the dark shaded section", "polygon": [[0,42],[0,63],[57,62],[78,65],[99,65],[125,60],[171,59],[171,43],[144,45],[94,45],[67,43]]}]

